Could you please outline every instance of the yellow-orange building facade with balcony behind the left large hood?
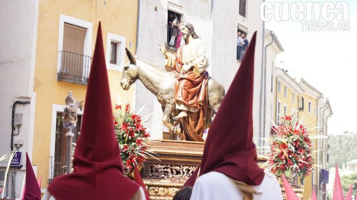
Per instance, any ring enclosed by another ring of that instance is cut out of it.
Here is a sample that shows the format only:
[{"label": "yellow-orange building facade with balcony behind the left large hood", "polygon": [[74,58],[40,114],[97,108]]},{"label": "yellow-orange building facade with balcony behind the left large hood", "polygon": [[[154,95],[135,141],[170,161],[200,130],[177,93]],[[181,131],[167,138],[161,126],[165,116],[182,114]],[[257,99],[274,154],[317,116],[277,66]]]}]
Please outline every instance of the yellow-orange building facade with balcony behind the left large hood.
[{"label": "yellow-orange building facade with balcony behind the left large hood", "polygon": [[63,174],[65,140],[60,116],[68,91],[77,100],[85,100],[99,21],[112,106],[118,97],[134,100],[135,87],[123,91],[119,81],[127,63],[125,47],[136,51],[137,11],[138,1],[39,1],[32,164],[37,166],[37,177],[42,176],[42,192]]}]

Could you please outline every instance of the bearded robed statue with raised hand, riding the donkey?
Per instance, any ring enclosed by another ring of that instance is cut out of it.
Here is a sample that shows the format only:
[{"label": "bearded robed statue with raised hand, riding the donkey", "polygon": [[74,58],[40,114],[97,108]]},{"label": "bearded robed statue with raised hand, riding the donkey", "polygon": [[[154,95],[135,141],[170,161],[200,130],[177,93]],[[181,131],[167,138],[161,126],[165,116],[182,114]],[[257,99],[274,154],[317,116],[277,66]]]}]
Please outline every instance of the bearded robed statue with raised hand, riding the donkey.
[{"label": "bearded robed statue with raised hand, riding the donkey", "polygon": [[174,119],[180,119],[182,122],[185,134],[181,139],[203,141],[209,79],[206,71],[209,66],[206,48],[191,23],[183,23],[180,29],[185,43],[176,54],[167,52],[164,44],[159,46],[165,55],[165,67],[172,69],[176,74]]}]

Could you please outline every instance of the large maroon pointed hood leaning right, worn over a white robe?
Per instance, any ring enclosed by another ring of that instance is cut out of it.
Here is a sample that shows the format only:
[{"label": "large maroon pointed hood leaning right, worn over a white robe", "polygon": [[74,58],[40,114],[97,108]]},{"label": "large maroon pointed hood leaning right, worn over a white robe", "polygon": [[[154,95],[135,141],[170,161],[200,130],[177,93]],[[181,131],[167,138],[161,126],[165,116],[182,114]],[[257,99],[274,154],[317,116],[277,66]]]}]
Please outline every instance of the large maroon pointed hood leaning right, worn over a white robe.
[{"label": "large maroon pointed hood leaning right, worn over a white robe", "polygon": [[[208,132],[199,175],[219,172],[248,185],[260,185],[264,170],[253,143],[254,49],[257,32]],[[197,168],[198,170],[198,168]],[[196,172],[184,186],[193,186]]]}]

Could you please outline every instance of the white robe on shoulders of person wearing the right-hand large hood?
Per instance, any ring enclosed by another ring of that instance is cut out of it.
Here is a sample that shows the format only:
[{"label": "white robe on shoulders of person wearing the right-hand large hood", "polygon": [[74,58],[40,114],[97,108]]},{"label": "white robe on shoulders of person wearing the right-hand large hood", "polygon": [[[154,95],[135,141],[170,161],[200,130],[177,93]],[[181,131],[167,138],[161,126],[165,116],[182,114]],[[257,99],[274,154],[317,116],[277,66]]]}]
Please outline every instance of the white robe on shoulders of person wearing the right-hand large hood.
[{"label": "white robe on shoulders of person wearing the right-hand large hood", "polygon": [[[261,193],[254,194],[253,200],[282,200],[282,190],[275,177],[265,173],[260,185],[251,186]],[[210,172],[200,176],[192,190],[190,200],[241,200],[243,196],[234,182],[227,176],[218,172]]]}]

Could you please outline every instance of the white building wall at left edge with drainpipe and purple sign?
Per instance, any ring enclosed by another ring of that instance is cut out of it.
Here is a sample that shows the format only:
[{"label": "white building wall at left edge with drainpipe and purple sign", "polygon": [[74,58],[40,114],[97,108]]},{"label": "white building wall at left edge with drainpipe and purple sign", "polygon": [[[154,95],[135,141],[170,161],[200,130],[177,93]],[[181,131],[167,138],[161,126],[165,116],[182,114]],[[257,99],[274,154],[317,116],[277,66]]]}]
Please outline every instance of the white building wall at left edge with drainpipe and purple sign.
[{"label": "white building wall at left edge with drainpipe and purple sign", "polygon": [[[24,152],[29,153],[30,159],[32,157],[38,4],[38,0],[0,2],[0,23],[3,25],[0,32],[3,44],[0,48],[0,156],[21,148],[22,165],[26,160]],[[4,186],[7,162],[0,162],[0,188]],[[25,166],[10,169],[5,196],[18,196],[24,172]],[[13,185],[16,190],[12,189]]]}]

